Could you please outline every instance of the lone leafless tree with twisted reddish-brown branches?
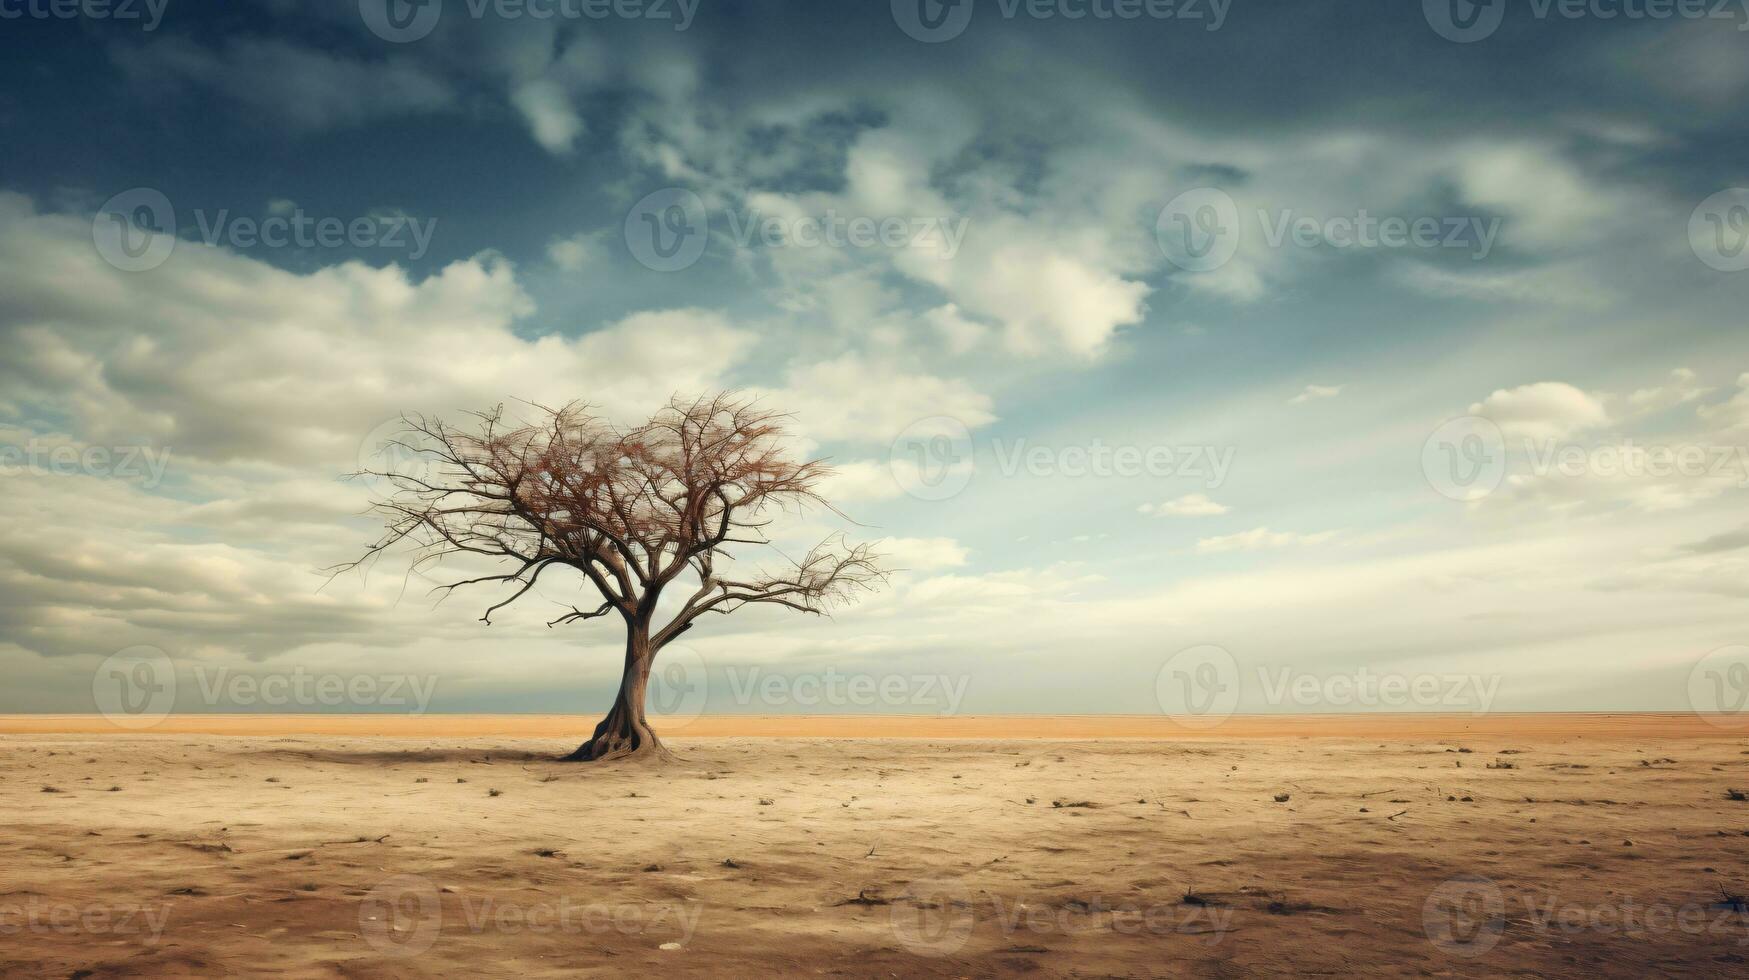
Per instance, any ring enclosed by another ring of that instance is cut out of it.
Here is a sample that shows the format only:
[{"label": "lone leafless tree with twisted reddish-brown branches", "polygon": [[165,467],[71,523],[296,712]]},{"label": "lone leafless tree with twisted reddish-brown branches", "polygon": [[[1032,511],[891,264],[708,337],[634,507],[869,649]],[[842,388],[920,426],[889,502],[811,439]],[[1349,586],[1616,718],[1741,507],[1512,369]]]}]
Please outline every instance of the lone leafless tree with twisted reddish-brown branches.
[{"label": "lone leafless tree with twisted reddish-brown branches", "polygon": [[[824,612],[883,578],[866,544],[829,537],[789,560],[766,537],[782,513],[831,509],[819,494],[829,469],[791,460],[787,418],[750,399],[673,399],[633,429],[579,404],[537,408],[532,424],[507,420],[504,406],[472,420],[458,429],[406,418],[406,432],[390,446],[423,466],[366,472],[394,486],[374,504],[385,534],[336,572],[402,548],[413,551],[413,570],[451,556],[491,562],[488,574],[434,590],[505,586],[509,595],[484,611],[484,623],[551,569],[581,572],[600,604],[572,606],[547,625],[617,612],[626,662],[614,707],[568,760],[666,756],[644,714],[651,665],[700,616],[754,604]],[[745,548],[778,555],[780,567],[736,560],[731,551]],[[670,588],[686,598],[658,623],[658,602]]]}]

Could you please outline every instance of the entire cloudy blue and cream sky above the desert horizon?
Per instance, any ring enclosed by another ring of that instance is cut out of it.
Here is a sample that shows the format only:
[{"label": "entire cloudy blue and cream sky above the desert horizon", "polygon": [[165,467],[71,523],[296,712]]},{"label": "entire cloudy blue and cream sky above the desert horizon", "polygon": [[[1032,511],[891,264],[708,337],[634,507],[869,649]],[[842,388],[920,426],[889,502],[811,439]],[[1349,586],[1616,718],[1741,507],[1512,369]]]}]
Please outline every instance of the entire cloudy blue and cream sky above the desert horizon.
[{"label": "entire cloudy blue and cream sky above the desert horizon", "polygon": [[1746,28],[0,0],[0,710],[600,712],[581,583],[324,572],[345,474],[719,388],[836,467],[780,542],[894,574],[693,630],[675,721],[1739,710]]}]

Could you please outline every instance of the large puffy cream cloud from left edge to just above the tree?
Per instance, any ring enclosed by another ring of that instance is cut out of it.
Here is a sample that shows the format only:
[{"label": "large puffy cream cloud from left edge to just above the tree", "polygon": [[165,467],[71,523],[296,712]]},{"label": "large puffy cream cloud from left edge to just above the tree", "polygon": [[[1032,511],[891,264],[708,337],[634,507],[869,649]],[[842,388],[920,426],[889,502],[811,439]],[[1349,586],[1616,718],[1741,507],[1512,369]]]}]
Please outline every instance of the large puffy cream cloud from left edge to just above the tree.
[{"label": "large puffy cream cloud from left edge to just above the tree", "polygon": [[77,436],[343,471],[402,411],[523,397],[635,415],[722,387],[752,343],[708,310],[521,336],[533,303],[490,254],[413,280],[362,262],[297,275],[178,242],[161,268],[122,273],[91,247],[89,219],[19,196],[0,196],[0,380],[33,411],[70,413]]}]

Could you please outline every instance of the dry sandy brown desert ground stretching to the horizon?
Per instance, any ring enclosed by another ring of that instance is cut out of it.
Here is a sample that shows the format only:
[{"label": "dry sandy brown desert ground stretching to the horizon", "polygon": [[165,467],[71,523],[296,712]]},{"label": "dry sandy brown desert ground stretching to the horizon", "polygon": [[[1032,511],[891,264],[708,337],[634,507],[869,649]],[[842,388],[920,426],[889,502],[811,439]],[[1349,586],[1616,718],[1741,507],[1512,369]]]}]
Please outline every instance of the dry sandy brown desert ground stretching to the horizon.
[{"label": "dry sandy brown desert ground stretching to the horizon", "polygon": [[[7,976],[1749,973],[1695,716],[0,719]],[[899,737],[908,735],[908,737]]]}]

